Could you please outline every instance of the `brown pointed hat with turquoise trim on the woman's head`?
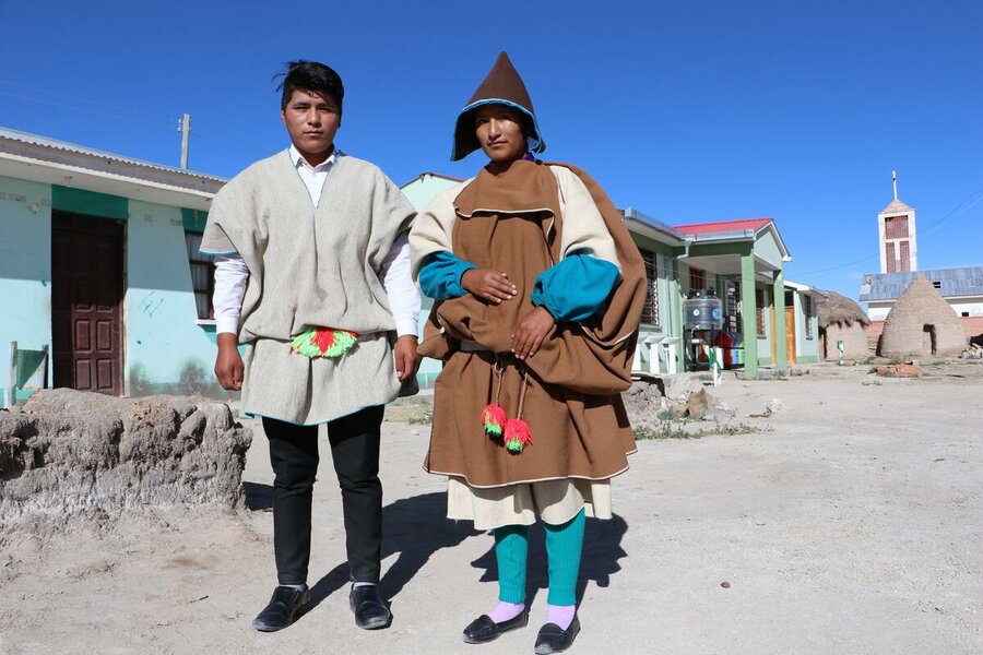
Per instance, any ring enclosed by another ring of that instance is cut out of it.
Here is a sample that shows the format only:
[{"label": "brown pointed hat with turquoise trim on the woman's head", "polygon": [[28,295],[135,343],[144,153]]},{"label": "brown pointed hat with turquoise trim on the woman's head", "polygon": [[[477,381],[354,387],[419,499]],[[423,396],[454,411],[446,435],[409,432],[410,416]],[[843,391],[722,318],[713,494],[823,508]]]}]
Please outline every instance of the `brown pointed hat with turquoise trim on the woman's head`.
[{"label": "brown pointed hat with turquoise trim on the woman's head", "polygon": [[529,152],[542,153],[546,150],[546,142],[543,141],[542,132],[540,132],[540,123],[536,120],[529,91],[525,90],[525,84],[516,71],[516,67],[509,61],[509,56],[500,52],[485,81],[458,115],[451,162],[463,159],[481,147],[477,135],[474,133],[474,111],[482,105],[492,104],[508,105],[521,111],[528,118],[524,128],[525,138],[529,141]]}]

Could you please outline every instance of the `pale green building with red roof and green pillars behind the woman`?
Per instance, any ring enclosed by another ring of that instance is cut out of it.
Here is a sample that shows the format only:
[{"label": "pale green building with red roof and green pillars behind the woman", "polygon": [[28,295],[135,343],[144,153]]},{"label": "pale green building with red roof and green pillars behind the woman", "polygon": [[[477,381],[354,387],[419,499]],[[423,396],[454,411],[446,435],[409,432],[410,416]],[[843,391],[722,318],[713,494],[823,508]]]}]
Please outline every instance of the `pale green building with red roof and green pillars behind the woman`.
[{"label": "pale green building with red roof and green pillars behind the woman", "polygon": [[[402,189],[421,211],[460,181],[425,172]],[[722,299],[724,331],[733,342],[725,362],[756,377],[759,367],[819,361],[816,306],[822,294],[784,279],[784,264],[792,258],[772,218],[671,226],[632,207],[621,215],[644,259],[649,283],[637,371],[706,367],[706,348],[692,341],[706,342],[708,335],[685,330],[683,301],[690,291],[710,288]],[[422,383],[431,382],[439,370],[439,362],[425,361]]]}]

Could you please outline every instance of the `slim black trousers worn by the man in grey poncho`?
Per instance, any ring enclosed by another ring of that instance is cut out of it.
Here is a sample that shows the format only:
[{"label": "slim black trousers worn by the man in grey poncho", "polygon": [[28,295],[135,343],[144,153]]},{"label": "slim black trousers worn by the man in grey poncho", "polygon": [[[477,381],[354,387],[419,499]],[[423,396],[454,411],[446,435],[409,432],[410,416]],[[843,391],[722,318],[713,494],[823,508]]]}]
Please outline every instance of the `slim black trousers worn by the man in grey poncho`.
[{"label": "slim black trousers worn by the man in grey poncho", "polygon": [[[342,491],[351,579],[379,582],[382,484],[379,433],[383,407],[366,407],[328,424],[331,458]],[[263,418],[273,465],[273,547],[280,584],[307,582],[310,507],[318,474],[318,426]]]}]

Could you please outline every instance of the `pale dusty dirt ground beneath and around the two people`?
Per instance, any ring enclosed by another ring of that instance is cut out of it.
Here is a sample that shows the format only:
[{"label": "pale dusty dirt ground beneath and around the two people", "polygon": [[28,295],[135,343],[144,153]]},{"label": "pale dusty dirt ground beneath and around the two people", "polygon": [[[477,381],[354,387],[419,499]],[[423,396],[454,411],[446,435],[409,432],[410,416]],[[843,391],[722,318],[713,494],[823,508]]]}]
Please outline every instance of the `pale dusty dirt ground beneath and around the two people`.
[{"label": "pale dusty dirt ground beneath and around the two people", "polygon": [[[736,420],[768,431],[640,442],[616,481],[615,519],[588,524],[583,630],[571,652],[983,653],[983,366],[927,366],[922,379],[875,379],[868,369],[727,374],[713,393]],[[785,409],[747,418],[773,398]],[[252,427],[247,510],[0,529],[0,653],[532,652],[545,611],[542,532],[530,627],[462,643],[463,627],[496,598],[492,538],[443,517],[443,481],[419,467],[428,428],[402,421],[383,427],[392,628],[354,626],[324,456],[315,606],[287,630],[250,630],[275,580],[272,476]]]}]

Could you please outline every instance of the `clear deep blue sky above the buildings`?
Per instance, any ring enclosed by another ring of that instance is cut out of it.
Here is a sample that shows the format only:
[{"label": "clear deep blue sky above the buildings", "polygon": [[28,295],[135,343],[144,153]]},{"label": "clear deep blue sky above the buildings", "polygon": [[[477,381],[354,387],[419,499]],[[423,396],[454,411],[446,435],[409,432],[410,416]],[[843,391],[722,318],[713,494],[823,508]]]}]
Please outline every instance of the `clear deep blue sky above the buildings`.
[{"label": "clear deep blue sky above the buildings", "polygon": [[983,265],[979,1],[355,5],[3,2],[0,126],[177,165],[188,112],[191,168],[230,177],[286,145],[271,78],[316,59],[345,82],[342,150],[396,183],[469,177],[453,120],[504,49],[544,157],[619,206],[773,216],[786,278],[855,298],[897,169],[920,267]]}]

